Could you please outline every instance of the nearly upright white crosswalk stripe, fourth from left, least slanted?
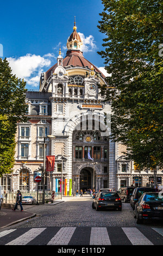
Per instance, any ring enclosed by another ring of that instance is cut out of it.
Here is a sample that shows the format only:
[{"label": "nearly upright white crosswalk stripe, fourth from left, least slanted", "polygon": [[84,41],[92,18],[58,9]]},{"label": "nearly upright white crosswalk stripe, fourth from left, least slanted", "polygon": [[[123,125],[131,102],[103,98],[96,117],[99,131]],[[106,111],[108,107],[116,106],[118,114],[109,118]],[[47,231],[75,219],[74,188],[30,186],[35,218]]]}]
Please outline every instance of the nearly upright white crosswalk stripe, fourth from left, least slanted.
[{"label": "nearly upright white crosswalk stripe, fourth from left, least slanted", "polygon": [[90,245],[111,245],[107,229],[92,227]]}]

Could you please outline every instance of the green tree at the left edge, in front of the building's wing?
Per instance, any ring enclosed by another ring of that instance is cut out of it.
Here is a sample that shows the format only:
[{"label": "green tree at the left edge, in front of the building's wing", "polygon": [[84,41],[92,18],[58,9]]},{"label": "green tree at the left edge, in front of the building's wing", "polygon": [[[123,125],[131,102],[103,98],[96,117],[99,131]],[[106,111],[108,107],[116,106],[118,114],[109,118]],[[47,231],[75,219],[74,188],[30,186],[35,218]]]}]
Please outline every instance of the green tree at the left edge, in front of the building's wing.
[{"label": "green tree at the left edge, in front of the building's wing", "polygon": [[27,121],[25,87],[12,75],[7,59],[0,58],[0,176],[14,167],[17,122]]}]

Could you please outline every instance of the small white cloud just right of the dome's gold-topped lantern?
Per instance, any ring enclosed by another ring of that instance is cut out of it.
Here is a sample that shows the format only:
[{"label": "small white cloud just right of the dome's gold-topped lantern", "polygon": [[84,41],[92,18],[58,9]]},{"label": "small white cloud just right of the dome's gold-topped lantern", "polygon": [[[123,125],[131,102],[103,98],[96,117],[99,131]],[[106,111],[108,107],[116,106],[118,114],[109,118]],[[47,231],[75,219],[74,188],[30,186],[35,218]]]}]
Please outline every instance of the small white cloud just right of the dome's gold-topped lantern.
[{"label": "small white cloud just right of the dome's gold-topped lantern", "polygon": [[83,33],[79,32],[78,34],[80,35],[80,38],[83,41],[83,45],[82,45],[83,52],[92,52],[97,49],[93,35],[89,35],[85,37]]}]

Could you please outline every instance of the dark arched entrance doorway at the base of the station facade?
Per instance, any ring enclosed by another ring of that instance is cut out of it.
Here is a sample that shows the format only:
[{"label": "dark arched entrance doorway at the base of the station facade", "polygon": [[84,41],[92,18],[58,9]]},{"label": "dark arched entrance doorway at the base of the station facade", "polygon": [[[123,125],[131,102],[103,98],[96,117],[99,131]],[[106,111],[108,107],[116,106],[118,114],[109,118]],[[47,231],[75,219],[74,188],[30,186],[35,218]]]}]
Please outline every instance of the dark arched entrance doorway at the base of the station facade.
[{"label": "dark arched entrance doorway at the base of the station facade", "polygon": [[83,190],[83,193],[89,190],[91,187],[91,172],[89,169],[84,168],[80,172],[80,190]]}]

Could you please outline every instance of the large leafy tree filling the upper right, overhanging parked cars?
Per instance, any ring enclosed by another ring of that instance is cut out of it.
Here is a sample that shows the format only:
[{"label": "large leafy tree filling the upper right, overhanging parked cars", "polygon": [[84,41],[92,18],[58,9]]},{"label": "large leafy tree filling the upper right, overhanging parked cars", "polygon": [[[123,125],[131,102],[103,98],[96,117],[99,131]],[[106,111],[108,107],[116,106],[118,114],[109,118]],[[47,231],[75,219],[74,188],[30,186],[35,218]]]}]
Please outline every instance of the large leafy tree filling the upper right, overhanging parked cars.
[{"label": "large leafy tree filling the upper right, overhanging parked cars", "polygon": [[163,2],[102,3],[98,28],[106,38],[99,54],[111,76],[101,89],[112,101],[112,138],[127,145],[127,157],[140,168],[162,167]]}]

